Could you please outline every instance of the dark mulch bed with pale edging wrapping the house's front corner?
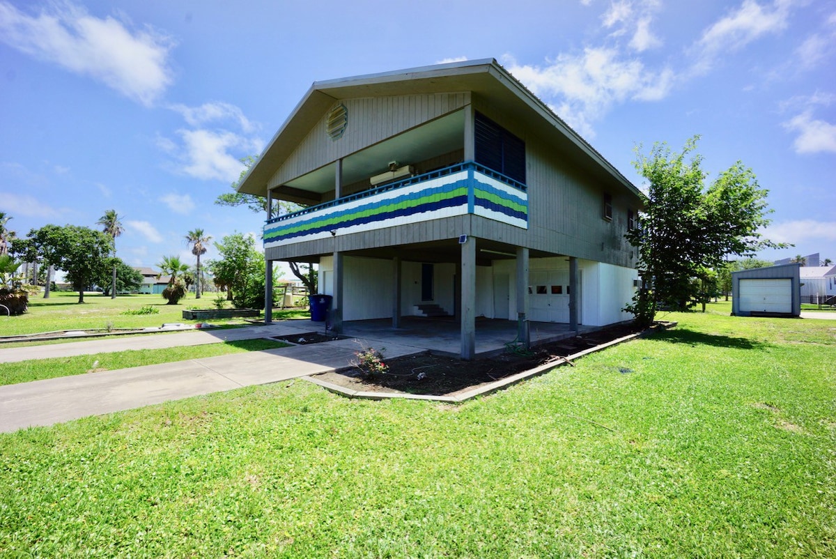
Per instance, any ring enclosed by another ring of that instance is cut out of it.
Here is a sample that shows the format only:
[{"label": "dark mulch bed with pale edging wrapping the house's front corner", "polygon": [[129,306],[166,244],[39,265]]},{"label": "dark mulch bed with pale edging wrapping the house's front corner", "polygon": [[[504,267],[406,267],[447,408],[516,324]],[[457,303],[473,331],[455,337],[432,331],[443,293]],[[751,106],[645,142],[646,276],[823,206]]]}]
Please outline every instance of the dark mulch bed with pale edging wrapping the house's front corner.
[{"label": "dark mulch bed with pale edging wrapping the house's front corner", "polygon": [[429,351],[388,360],[384,355],[384,362],[389,371],[375,377],[365,377],[356,367],[339,372],[326,372],[316,377],[359,392],[450,396],[636,332],[637,330],[630,325],[612,326],[584,336],[533,347],[529,351],[523,348],[521,351],[472,362],[461,361],[456,357],[432,355]]}]

